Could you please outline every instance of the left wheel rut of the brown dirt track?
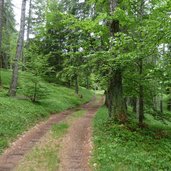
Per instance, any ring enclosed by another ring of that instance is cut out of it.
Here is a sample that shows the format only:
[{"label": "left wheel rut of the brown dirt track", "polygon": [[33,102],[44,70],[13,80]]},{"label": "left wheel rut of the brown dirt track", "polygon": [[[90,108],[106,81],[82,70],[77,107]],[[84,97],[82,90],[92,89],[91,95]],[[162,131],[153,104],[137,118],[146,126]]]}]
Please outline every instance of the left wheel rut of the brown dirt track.
[{"label": "left wheel rut of the brown dirt track", "polygon": [[86,106],[89,106],[93,101],[94,100],[80,107],[61,112],[57,115],[52,115],[47,121],[37,124],[22,135],[0,156],[0,171],[14,170],[19,161],[23,159],[25,154],[31,150],[41,137],[49,131],[53,124],[64,120],[68,115],[80,110],[81,108],[86,108]]}]

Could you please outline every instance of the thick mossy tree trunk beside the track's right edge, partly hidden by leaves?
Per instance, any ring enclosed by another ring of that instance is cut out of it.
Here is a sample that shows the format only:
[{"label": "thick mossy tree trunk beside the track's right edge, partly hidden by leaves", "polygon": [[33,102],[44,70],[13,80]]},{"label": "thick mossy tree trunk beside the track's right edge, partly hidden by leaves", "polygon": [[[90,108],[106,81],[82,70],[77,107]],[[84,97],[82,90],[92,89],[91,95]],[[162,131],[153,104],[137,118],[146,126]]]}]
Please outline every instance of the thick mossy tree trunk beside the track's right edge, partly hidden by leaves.
[{"label": "thick mossy tree trunk beside the track's right edge, partly hidden by leaves", "polygon": [[[117,7],[117,0],[110,0],[110,15],[113,15],[113,12]],[[113,37],[119,32],[119,21],[112,20],[110,22],[110,35]],[[126,105],[123,98],[123,89],[122,89],[122,71],[117,68],[113,71],[113,75],[109,81],[108,87],[108,101],[109,101],[109,116],[114,118],[119,122],[125,122],[127,120],[126,116]]]}]

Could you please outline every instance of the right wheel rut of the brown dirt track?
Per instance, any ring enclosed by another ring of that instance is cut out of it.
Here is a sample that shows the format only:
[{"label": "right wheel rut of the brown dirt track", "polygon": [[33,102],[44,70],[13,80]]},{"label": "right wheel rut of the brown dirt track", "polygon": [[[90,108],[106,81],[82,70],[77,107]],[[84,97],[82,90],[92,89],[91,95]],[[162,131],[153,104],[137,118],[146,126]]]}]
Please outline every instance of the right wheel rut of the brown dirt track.
[{"label": "right wheel rut of the brown dirt track", "polygon": [[86,115],[72,124],[62,142],[59,171],[91,170],[88,165],[91,155],[91,120],[101,104],[102,100],[85,105]]}]

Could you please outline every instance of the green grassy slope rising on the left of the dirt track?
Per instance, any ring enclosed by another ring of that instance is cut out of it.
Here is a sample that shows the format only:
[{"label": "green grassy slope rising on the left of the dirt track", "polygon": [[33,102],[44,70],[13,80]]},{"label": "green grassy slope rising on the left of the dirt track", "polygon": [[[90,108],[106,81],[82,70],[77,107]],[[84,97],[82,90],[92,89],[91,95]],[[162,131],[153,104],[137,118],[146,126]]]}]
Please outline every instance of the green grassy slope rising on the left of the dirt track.
[{"label": "green grassy slope rising on the left of the dirt track", "polygon": [[[20,74],[20,87],[29,81],[27,73]],[[67,108],[89,101],[93,93],[81,88],[83,98],[75,95],[74,90],[62,86],[42,82],[48,88],[47,97],[39,104],[33,104],[29,100],[21,100],[8,97],[7,90],[10,81],[10,72],[2,72],[4,89],[0,92],[0,152],[28,127],[38,120],[48,117],[50,113],[60,112]],[[19,93],[21,95],[21,90]]]}]

